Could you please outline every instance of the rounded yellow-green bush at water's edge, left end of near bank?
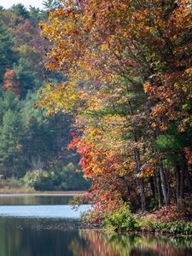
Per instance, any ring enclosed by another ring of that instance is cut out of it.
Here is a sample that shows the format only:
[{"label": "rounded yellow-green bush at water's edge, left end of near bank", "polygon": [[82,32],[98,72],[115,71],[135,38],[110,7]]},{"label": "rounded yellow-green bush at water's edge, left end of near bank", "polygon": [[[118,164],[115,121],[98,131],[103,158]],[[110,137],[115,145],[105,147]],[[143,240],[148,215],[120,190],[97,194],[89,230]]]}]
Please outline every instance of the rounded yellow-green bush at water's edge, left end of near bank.
[{"label": "rounded yellow-green bush at water's edge, left end of near bank", "polygon": [[125,229],[127,231],[137,229],[137,219],[131,213],[127,203],[123,203],[118,210],[104,217],[104,225],[113,230]]}]

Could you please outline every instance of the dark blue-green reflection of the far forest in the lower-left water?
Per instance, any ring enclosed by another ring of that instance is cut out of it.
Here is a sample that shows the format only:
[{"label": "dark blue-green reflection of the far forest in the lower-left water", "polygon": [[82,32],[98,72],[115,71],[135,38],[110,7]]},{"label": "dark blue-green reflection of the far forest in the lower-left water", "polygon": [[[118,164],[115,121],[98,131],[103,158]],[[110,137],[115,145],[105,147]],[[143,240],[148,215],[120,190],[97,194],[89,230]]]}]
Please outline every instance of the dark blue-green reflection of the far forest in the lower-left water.
[{"label": "dark blue-green reflection of the far forest in the lower-left water", "polygon": [[0,218],[0,255],[73,255],[68,244],[79,236],[78,226],[70,219]]}]

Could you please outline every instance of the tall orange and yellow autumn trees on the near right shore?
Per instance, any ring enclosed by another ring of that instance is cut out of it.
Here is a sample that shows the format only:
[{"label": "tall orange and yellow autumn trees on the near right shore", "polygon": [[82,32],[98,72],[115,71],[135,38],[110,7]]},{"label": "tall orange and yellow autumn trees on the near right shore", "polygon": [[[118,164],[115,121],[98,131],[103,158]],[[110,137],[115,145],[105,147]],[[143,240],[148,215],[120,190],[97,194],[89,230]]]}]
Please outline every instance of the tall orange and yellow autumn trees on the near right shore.
[{"label": "tall orange and yellow autumn trees on the near right shore", "polygon": [[61,1],[42,27],[47,67],[67,81],[47,85],[39,105],[74,113],[70,147],[92,178],[93,216],[189,197],[190,1]]}]

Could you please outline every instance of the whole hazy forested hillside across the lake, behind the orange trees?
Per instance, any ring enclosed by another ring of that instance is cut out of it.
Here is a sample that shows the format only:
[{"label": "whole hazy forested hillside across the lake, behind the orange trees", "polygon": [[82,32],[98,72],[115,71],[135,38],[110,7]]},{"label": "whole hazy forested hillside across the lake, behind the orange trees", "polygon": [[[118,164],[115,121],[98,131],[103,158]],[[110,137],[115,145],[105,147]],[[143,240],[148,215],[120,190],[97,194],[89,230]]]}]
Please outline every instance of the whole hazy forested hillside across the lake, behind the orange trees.
[{"label": "whole hazy forested hillside across the lake, behind the orange trees", "polygon": [[35,108],[41,88],[58,83],[61,73],[44,68],[48,43],[41,37],[39,21],[44,10],[22,4],[0,8],[0,175],[13,177],[34,189],[86,189],[82,173],[76,173],[79,156],[67,150],[71,121],[67,114],[48,117]]}]

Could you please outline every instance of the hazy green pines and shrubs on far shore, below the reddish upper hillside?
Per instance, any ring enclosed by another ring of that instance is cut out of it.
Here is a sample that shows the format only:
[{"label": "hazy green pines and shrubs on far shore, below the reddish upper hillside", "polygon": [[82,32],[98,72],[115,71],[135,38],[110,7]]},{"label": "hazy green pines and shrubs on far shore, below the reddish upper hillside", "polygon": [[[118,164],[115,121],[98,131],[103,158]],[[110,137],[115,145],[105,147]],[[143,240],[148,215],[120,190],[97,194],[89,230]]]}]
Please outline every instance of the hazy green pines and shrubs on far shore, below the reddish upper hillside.
[{"label": "hazy green pines and shrubs on far shore, below the reddish upper hillside", "polygon": [[75,172],[77,156],[67,151],[70,123],[63,115],[47,117],[42,109],[33,108],[37,99],[38,93],[28,93],[20,101],[12,92],[0,91],[0,174],[5,179],[25,176],[23,183],[38,190],[88,189],[83,173]]}]

